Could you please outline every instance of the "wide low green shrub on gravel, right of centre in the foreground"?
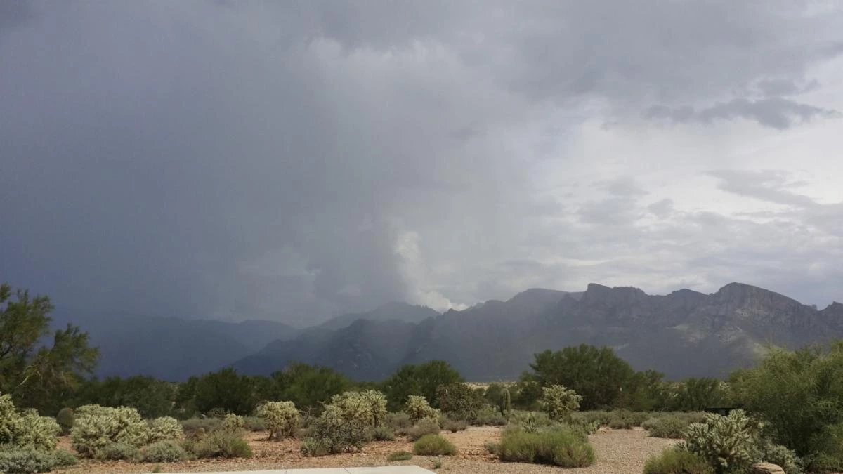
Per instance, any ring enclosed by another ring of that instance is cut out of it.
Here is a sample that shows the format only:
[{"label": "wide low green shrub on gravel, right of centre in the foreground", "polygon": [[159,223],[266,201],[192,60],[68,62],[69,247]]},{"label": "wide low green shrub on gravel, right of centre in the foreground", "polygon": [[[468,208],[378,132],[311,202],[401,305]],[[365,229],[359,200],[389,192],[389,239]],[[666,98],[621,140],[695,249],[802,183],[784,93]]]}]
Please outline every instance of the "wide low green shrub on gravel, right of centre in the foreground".
[{"label": "wide low green shrub on gravel, right of centre in the foreground", "polygon": [[594,450],[588,438],[577,429],[556,429],[527,433],[520,428],[504,431],[497,447],[501,461],[585,467],[594,462]]}]

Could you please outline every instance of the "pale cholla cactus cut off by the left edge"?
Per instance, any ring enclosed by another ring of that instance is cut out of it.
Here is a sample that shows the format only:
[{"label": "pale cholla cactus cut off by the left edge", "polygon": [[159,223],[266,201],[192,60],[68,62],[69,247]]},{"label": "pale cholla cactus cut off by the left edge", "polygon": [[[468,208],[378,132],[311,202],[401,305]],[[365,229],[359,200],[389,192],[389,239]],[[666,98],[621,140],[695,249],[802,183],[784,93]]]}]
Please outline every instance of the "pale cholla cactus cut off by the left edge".
[{"label": "pale cholla cactus cut off by the left edge", "polygon": [[11,396],[0,396],[0,444],[51,451],[56,449],[56,436],[61,430],[55,419],[40,417],[35,410],[18,412]]}]

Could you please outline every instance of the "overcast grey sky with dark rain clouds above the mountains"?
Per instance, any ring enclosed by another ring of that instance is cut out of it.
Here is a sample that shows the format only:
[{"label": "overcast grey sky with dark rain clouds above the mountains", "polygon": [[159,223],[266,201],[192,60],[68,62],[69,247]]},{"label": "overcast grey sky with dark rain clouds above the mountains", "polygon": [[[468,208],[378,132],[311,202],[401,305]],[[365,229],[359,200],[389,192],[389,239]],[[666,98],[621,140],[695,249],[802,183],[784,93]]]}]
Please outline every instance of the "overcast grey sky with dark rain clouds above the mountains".
[{"label": "overcast grey sky with dark rain clouds above the mountains", "polygon": [[843,9],[0,1],[0,281],[304,324],[590,282],[843,299]]}]

